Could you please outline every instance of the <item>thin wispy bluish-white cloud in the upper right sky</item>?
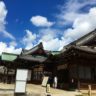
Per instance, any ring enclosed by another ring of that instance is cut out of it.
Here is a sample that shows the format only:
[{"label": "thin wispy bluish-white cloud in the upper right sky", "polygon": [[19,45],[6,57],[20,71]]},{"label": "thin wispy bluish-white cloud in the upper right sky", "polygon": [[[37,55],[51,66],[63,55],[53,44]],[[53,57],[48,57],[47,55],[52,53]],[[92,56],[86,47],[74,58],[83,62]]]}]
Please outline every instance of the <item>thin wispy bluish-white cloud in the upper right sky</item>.
[{"label": "thin wispy bluish-white cloud in the upper right sky", "polygon": [[60,7],[61,13],[57,15],[59,24],[73,23],[77,17],[81,17],[82,8],[92,5],[96,5],[96,0],[69,0]]}]

